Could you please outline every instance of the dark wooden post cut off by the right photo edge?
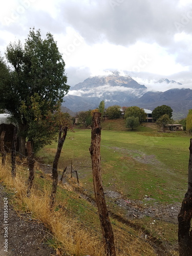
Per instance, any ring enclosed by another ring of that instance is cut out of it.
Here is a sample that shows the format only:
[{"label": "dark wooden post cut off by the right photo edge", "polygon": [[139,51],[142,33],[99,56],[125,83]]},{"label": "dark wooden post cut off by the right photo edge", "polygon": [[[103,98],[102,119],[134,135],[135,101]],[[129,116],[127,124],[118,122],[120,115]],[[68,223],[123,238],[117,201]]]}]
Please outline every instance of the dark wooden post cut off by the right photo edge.
[{"label": "dark wooden post cut off by the right photo edge", "polygon": [[190,230],[190,221],[192,218],[192,139],[190,139],[189,151],[188,190],[178,215],[178,242],[180,256],[192,255],[192,230]]}]

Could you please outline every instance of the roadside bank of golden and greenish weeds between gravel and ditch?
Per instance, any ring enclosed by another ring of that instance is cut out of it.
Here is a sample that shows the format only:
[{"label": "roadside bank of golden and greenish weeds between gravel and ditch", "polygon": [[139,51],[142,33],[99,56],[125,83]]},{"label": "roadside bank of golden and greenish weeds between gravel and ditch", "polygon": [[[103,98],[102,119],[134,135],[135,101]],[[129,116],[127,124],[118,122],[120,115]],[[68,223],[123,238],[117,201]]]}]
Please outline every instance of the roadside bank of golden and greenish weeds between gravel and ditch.
[{"label": "roadside bank of golden and greenish weeds between gravel and ditch", "polygon": [[[72,188],[59,184],[55,209],[50,211],[52,182],[50,177],[42,179],[40,175],[39,170],[36,171],[31,197],[28,198],[26,196],[28,168],[17,166],[16,178],[12,179],[10,164],[0,167],[1,183],[6,185],[13,195],[12,202],[15,209],[30,214],[31,218],[45,224],[48,232],[53,236],[52,244],[59,249],[60,255],[104,256],[96,208],[86,200],[80,199]],[[135,231],[112,220],[113,222],[117,255],[156,255],[151,243],[143,239],[144,235],[141,231]]]}]

